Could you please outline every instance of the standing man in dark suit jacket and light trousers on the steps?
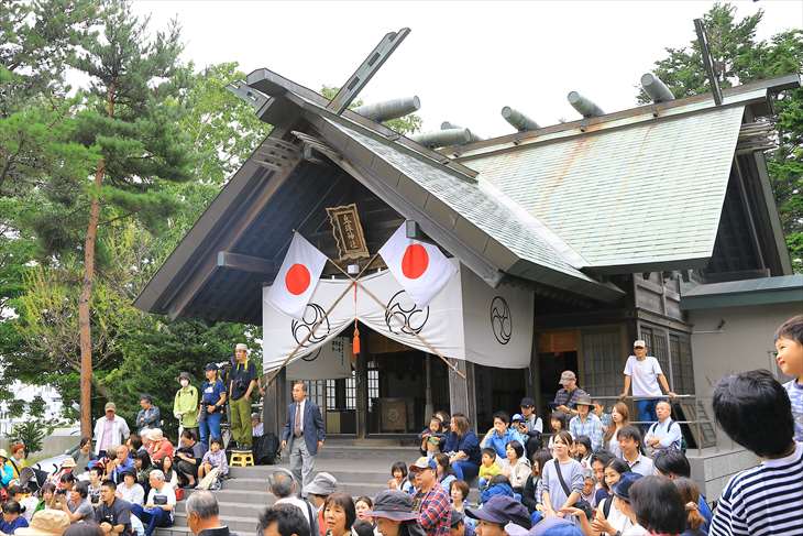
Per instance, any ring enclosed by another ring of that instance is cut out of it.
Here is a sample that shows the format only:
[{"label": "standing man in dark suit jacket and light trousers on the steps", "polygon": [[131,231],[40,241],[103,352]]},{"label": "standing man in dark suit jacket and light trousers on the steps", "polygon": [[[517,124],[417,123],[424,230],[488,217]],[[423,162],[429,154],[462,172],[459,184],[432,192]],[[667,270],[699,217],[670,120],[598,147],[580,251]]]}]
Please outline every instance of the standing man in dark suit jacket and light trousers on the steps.
[{"label": "standing man in dark suit jacket and light trousers on the steps", "polygon": [[289,445],[290,470],[304,489],[312,479],[315,457],[327,437],[320,408],[307,400],[307,385],[293,383],[293,404],[287,406],[287,422],[282,430],[282,450]]}]

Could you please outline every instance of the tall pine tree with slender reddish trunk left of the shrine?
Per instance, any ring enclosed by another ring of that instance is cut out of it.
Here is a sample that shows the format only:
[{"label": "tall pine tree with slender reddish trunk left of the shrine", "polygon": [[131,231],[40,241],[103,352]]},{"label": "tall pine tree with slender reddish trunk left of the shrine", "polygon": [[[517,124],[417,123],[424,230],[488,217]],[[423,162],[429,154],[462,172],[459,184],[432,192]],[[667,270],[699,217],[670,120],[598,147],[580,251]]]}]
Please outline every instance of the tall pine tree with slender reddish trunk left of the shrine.
[{"label": "tall pine tree with slender reddish trunk left of the shrine", "polygon": [[77,117],[76,140],[101,154],[87,188],[89,216],[78,299],[85,435],[91,431],[91,299],[101,217],[106,221],[133,217],[156,231],[177,209],[165,186],[190,178],[189,150],[176,128],[174,106],[185,74],[178,63],[178,25],[148,39],[148,20],[135,17],[124,0],[103,1],[99,19],[102,35],[88,41],[74,61],[92,80],[86,109]]}]

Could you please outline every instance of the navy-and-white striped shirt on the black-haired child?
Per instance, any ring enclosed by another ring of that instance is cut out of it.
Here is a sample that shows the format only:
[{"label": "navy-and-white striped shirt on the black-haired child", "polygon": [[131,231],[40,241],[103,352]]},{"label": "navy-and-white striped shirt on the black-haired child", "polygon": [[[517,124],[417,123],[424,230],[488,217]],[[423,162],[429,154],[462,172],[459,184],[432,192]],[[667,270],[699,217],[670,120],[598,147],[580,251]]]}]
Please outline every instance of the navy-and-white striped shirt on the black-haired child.
[{"label": "navy-and-white striped shirt on the black-haired child", "polygon": [[803,534],[803,444],[734,475],[711,522],[712,536]]}]

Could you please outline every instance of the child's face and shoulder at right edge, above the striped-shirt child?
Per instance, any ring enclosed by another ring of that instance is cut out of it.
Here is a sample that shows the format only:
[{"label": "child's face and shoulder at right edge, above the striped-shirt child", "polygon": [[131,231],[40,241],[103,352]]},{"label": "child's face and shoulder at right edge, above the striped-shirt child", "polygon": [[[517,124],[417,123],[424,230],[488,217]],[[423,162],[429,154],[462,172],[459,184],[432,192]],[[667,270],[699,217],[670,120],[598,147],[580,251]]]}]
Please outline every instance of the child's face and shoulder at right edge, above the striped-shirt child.
[{"label": "child's face and shoulder at right edge, above the striped-shirt child", "polygon": [[776,331],[776,361],[792,380],[783,384],[792,404],[794,440],[803,441],[803,315],[790,318]]}]

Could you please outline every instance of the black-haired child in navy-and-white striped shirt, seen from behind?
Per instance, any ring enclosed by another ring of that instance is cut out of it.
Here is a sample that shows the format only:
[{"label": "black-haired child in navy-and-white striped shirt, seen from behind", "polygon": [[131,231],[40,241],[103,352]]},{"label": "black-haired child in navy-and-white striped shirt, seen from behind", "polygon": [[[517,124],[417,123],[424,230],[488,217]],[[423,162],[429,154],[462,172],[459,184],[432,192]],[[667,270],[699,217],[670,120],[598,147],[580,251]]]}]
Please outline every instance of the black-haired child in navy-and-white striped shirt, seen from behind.
[{"label": "black-haired child in navy-and-white striped shirt, seen from behind", "polygon": [[734,441],[762,461],[730,479],[708,534],[801,534],[803,444],[794,441],[787,390],[766,370],[725,376],[714,390],[714,415]]}]

